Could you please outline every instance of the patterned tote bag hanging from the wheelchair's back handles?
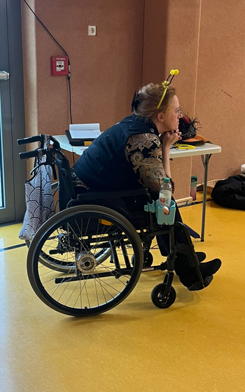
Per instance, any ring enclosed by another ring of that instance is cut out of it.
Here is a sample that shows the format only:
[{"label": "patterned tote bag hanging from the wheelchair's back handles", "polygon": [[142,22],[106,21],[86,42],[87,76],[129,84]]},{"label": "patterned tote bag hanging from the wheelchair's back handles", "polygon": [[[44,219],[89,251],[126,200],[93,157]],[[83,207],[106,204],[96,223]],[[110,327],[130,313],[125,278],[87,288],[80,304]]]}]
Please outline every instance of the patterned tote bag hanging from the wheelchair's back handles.
[{"label": "patterned tote bag hanging from the wheelchair's back handles", "polygon": [[[44,148],[48,148],[50,138],[45,135]],[[55,214],[55,203],[52,195],[52,167],[40,165],[45,163],[46,155],[38,149],[38,158],[35,160],[34,176],[25,182],[25,213],[19,238],[31,241],[38,228]],[[38,166],[40,165],[40,166]]]}]

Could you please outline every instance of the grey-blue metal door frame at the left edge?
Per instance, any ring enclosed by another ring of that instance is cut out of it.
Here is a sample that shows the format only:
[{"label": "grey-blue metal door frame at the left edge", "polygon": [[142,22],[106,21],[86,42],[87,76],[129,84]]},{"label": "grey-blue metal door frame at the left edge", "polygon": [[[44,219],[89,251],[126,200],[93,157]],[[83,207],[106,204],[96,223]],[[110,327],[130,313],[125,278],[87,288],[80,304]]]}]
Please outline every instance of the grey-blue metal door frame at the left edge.
[{"label": "grey-blue metal door frame at the left edge", "polygon": [[[1,6],[6,6],[7,22],[8,69],[3,69],[3,71],[10,74],[9,80],[1,82],[9,83],[10,88],[10,118],[4,119],[11,130],[10,144],[13,152],[13,165],[11,166],[13,166],[14,211],[10,221],[21,221],[25,214],[25,180],[27,178],[26,162],[19,159],[19,153],[25,150],[25,146],[17,144],[17,139],[25,137],[21,0],[0,0],[0,3]],[[0,219],[0,223],[3,222],[8,222],[8,220]]]}]

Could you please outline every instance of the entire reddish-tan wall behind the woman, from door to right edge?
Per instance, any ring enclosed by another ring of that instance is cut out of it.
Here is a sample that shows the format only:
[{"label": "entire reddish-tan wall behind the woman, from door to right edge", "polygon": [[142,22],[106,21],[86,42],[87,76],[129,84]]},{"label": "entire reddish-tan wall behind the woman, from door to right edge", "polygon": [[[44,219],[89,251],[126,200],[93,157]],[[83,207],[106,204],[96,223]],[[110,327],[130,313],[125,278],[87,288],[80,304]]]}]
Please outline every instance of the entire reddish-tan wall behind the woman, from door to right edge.
[{"label": "entire reddish-tan wall behind the woman, from door to right edge", "polygon": [[[223,148],[209,179],[239,172],[244,157],[244,0],[29,0],[71,59],[73,123],[113,125],[130,114],[134,90],[160,83],[169,69],[182,109],[201,134]],[[97,36],[87,26],[97,25]],[[62,55],[22,2],[27,136],[63,134],[69,126],[66,77],[50,73]],[[176,198],[189,195],[190,175],[203,180],[200,157],[172,162]]]}]

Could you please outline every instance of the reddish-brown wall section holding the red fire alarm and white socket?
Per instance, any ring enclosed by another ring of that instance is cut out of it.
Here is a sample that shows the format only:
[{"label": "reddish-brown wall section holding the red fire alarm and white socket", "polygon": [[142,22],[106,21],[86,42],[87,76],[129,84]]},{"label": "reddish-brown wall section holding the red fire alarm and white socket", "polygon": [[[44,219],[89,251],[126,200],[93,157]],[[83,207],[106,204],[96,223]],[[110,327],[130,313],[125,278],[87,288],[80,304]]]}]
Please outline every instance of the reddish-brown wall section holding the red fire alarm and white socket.
[{"label": "reddish-brown wall section holding the red fire alarm and white socket", "polygon": [[[33,0],[32,4],[68,52],[73,123],[100,123],[106,130],[127,116],[142,80],[144,0]],[[50,57],[64,53],[34,23],[23,2],[22,25],[27,135],[63,134],[70,123],[68,84],[65,76],[51,76]],[[97,36],[87,36],[88,25],[97,26]],[[37,113],[29,111],[34,76]]]}]

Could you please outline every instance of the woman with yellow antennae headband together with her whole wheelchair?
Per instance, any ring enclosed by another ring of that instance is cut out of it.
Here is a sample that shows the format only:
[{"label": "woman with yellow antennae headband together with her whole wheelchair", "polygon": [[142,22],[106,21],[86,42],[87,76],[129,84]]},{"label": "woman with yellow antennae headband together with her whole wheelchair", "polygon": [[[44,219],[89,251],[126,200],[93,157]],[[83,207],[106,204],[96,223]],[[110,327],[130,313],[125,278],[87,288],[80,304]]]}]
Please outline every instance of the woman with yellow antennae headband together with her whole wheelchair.
[{"label": "woman with yellow antennae headband together with her whole wheelchair", "polygon": [[[31,182],[22,230],[28,238],[22,239],[28,240],[31,286],[52,309],[70,316],[100,314],[125,300],[141,272],[167,270],[151,293],[153,304],[165,309],[176,299],[174,270],[188,290],[202,290],[221,267],[221,260],[202,262],[205,253],[195,253],[174,199],[169,216],[158,206],[160,185],[166,176],[171,179],[170,146],[181,139],[181,108],[170,82],[149,84],[134,94],[132,115],[95,139],[71,169],[54,137],[18,141],[41,143],[35,151],[20,153],[21,159],[36,158],[31,181],[39,184],[41,175],[47,179],[44,187],[37,186],[40,203]],[[52,173],[57,179],[55,165],[59,182],[51,186]],[[43,222],[45,209],[50,215]],[[152,265],[155,236],[167,256],[160,265]]]}]

